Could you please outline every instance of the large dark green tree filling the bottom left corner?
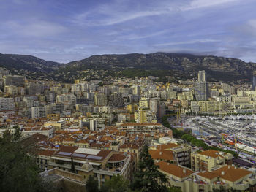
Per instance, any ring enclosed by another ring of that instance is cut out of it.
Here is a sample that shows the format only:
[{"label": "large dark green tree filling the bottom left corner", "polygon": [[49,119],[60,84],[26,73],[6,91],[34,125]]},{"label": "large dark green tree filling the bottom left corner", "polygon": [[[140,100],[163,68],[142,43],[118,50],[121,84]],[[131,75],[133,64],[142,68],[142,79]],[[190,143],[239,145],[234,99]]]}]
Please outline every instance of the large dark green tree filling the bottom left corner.
[{"label": "large dark green tree filling the bottom left corner", "polygon": [[54,191],[39,176],[39,170],[34,159],[28,155],[18,137],[19,128],[15,134],[10,131],[0,138],[0,188],[5,191]]}]

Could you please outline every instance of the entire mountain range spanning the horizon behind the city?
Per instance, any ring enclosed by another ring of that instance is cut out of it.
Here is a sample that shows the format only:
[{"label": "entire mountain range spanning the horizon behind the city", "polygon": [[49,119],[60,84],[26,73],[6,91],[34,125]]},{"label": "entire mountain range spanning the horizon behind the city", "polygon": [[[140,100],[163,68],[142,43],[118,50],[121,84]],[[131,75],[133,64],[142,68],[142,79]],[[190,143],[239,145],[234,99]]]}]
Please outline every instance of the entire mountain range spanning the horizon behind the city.
[{"label": "entire mountain range spanning the horizon behind the city", "polygon": [[0,67],[12,74],[26,75],[35,80],[73,82],[74,79],[106,79],[109,77],[155,76],[159,80],[186,80],[205,70],[210,81],[250,80],[255,63],[236,58],[184,53],[93,55],[80,61],[59,64],[31,55],[0,53]]}]

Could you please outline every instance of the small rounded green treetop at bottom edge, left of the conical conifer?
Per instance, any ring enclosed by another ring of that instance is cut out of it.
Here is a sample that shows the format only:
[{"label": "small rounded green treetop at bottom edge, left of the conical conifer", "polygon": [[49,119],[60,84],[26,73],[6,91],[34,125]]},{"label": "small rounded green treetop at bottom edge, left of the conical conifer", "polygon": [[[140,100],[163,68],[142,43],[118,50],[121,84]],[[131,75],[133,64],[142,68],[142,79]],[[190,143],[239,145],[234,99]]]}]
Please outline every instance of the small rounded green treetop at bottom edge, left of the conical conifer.
[{"label": "small rounded green treetop at bottom edge, left of the conical conifer", "polygon": [[110,180],[107,180],[102,186],[102,192],[129,192],[129,182],[125,180],[124,177],[114,175]]}]

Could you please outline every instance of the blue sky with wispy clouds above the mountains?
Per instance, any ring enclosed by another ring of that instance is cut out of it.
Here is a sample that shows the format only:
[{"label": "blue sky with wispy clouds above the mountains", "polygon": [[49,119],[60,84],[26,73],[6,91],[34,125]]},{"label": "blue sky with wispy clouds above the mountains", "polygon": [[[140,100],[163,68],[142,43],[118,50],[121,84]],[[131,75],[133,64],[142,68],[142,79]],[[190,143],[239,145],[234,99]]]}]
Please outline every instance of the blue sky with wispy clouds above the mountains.
[{"label": "blue sky with wispy clouds above the mountains", "polygon": [[0,53],[67,63],[110,53],[256,62],[255,0],[0,0]]}]

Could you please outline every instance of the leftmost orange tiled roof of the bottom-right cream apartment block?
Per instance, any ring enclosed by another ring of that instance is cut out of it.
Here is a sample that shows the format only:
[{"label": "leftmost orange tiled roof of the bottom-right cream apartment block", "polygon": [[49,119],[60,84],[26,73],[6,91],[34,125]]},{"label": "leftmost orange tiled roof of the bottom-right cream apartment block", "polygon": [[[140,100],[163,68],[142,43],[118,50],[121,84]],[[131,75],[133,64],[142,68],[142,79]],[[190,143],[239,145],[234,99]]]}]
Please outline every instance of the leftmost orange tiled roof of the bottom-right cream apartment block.
[{"label": "leftmost orange tiled roof of the bottom-right cream apartment block", "polygon": [[184,177],[188,177],[190,174],[193,173],[189,169],[178,166],[176,164],[169,164],[169,163],[164,162],[164,161],[160,161],[156,165],[158,165],[159,169],[162,170],[163,172],[167,172],[168,174],[172,174],[172,175],[174,175],[176,177],[179,177],[181,179],[184,178]]}]

